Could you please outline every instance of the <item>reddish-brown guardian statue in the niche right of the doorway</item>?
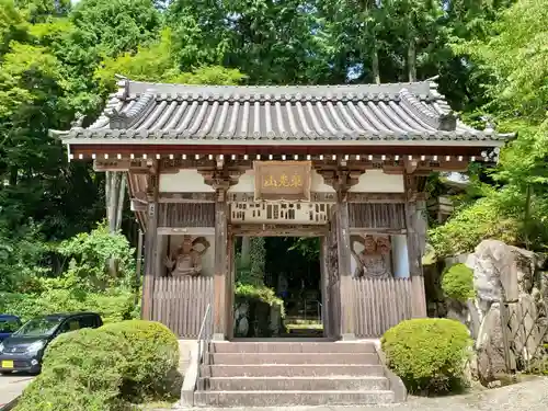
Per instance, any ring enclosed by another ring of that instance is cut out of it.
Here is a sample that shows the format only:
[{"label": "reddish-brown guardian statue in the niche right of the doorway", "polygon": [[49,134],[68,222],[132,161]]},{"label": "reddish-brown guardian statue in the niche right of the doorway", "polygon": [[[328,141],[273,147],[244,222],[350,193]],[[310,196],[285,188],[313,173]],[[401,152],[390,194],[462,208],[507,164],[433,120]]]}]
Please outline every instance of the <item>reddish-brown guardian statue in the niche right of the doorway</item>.
[{"label": "reddish-brown guardian statue in the niche right of the doorway", "polygon": [[[356,263],[355,277],[389,278],[392,276],[390,238],[388,236],[352,236],[352,255]],[[363,250],[356,251],[356,243]]]}]

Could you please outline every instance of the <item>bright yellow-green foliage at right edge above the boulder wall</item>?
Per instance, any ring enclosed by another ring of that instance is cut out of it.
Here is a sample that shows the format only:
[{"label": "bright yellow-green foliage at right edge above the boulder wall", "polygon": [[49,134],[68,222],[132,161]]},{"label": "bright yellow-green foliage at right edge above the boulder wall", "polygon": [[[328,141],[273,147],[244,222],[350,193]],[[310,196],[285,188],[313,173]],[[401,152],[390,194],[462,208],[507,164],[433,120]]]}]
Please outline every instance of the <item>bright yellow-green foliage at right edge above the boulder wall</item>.
[{"label": "bright yellow-green foliage at right edge above the boulder wall", "polygon": [[491,114],[500,129],[517,132],[517,138],[502,151],[499,169],[489,175],[494,186],[483,198],[431,231],[438,255],[469,252],[486,238],[537,251],[546,248],[547,10],[546,1],[517,0],[494,23],[482,26],[486,35],[454,46],[484,79],[489,100],[475,114]]}]

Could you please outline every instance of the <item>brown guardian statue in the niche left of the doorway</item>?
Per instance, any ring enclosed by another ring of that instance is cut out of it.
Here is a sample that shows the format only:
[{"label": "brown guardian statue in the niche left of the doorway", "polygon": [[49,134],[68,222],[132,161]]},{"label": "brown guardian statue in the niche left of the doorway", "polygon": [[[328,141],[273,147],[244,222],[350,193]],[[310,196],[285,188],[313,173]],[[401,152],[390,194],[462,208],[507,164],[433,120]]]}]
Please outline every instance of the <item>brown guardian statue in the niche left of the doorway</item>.
[{"label": "brown guardian statue in the niche left of the doorway", "polygon": [[[196,250],[198,244],[202,246],[202,251]],[[193,240],[191,236],[184,236],[181,246],[165,258],[169,274],[174,278],[198,276],[202,274],[202,255],[208,248],[209,242],[204,237]]]}]

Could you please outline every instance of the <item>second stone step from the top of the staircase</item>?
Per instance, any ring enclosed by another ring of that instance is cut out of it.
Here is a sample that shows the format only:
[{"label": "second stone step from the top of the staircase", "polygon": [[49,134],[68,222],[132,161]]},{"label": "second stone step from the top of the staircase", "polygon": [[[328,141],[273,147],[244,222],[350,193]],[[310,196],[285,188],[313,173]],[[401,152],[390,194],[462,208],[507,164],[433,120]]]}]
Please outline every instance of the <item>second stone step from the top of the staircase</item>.
[{"label": "second stone step from the top of the staircase", "polygon": [[379,364],[373,353],[215,353],[209,354],[212,365],[251,364]]}]

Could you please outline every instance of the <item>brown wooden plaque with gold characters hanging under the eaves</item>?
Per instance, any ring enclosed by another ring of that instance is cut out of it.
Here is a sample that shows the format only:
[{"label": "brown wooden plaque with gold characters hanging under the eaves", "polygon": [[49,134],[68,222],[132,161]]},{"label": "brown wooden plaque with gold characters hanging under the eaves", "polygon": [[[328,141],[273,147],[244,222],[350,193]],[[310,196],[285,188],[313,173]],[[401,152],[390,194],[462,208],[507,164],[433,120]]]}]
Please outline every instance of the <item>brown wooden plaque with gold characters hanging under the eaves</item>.
[{"label": "brown wooden plaque with gold characters hanging under the eaves", "polygon": [[310,201],[310,161],[254,161],[255,201]]}]

